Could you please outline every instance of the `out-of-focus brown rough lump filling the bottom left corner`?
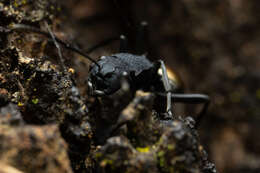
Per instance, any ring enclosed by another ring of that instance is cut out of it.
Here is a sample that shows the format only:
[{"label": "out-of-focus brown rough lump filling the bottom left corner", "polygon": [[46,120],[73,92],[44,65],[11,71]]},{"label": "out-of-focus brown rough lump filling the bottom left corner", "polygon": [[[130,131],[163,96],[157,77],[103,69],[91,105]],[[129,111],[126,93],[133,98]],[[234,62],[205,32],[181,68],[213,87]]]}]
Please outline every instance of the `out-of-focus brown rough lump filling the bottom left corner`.
[{"label": "out-of-focus brown rough lump filling the bottom left corner", "polygon": [[19,115],[12,104],[0,109],[0,172],[15,173],[7,165],[22,172],[72,172],[58,127],[24,125]]}]

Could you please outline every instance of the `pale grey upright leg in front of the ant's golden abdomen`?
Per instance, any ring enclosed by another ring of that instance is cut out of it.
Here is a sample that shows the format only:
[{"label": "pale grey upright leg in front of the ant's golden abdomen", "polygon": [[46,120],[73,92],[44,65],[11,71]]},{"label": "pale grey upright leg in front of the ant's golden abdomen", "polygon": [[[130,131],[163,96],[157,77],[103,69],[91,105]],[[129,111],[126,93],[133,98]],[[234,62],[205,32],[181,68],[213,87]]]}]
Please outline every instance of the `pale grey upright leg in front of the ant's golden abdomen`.
[{"label": "pale grey upright leg in front of the ant's golden abdomen", "polygon": [[167,74],[167,70],[165,67],[165,64],[162,60],[159,60],[160,63],[160,67],[162,69],[162,81],[163,81],[163,86],[164,86],[164,90],[167,94],[167,107],[166,107],[166,113],[168,113],[169,116],[173,116],[172,115],[172,103],[171,103],[171,99],[172,99],[172,93],[171,93],[171,86],[169,83],[169,78],[168,78],[168,74]]}]

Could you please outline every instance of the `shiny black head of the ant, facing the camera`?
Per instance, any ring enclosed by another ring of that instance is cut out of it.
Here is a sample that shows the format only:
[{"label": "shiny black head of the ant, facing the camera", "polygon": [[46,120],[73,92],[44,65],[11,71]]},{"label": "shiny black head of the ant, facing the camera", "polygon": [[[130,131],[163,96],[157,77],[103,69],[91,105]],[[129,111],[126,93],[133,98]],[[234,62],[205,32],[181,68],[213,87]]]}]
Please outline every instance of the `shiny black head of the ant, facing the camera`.
[{"label": "shiny black head of the ant, facing the camera", "polygon": [[[98,64],[98,65],[97,65]],[[102,56],[89,70],[88,88],[90,95],[109,95],[120,89],[122,74],[110,56]]]}]

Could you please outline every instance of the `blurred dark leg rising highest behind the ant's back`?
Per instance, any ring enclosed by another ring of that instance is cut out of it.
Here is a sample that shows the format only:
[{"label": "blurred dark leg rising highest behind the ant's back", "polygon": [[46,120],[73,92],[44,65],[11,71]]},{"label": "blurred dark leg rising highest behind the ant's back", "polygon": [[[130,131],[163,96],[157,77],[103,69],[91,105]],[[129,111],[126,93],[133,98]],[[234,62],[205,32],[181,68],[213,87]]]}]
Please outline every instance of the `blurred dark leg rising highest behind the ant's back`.
[{"label": "blurred dark leg rising highest behind the ant's back", "polygon": [[135,53],[143,55],[147,53],[148,44],[148,23],[142,21],[138,27],[135,40]]}]

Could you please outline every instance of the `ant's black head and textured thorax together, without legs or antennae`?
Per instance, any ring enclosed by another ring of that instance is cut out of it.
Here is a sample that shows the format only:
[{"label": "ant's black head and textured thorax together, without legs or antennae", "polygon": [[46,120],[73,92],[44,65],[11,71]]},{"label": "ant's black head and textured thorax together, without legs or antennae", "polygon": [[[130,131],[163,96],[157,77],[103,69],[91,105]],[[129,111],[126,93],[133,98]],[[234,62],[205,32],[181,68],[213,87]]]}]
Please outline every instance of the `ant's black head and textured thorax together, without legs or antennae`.
[{"label": "ant's black head and textured thorax together, without legs or antennae", "polygon": [[130,53],[117,53],[110,56],[102,56],[90,68],[88,84],[92,93],[96,95],[113,94],[120,89],[120,79],[128,79],[132,90],[150,90],[158,84],[160,66],[150,62],[145,55]]}]

